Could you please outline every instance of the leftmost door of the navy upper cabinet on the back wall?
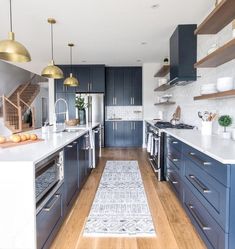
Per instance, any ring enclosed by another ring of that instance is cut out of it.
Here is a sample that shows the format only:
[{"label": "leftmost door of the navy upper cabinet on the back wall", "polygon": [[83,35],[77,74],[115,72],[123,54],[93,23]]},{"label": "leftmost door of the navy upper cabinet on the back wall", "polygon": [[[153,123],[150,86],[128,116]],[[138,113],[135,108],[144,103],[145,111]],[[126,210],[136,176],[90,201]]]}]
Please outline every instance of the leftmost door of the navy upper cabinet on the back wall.
[{"label": "leftmost door of the navy upper cabinet on the back wall", "polygon": [[106,68],[106,91],[105,91],[105,102],[107,106],[114,105],[114,69]]}]

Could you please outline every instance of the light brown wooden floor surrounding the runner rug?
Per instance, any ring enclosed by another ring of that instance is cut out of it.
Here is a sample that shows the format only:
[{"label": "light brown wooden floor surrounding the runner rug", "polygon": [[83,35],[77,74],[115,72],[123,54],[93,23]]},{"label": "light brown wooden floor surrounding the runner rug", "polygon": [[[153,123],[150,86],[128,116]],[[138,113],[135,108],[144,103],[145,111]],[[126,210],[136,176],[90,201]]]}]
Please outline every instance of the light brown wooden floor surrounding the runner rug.
[{"label": "light brown wooden floor surrounding the runner rug", "polygon": [[[83,237],[89,210],[107,160],[138,160],[157,236]],[[142,149],[103,149],[99,166],[82,189],[51,249],[205,249],[167,182],[157,182]]]}]

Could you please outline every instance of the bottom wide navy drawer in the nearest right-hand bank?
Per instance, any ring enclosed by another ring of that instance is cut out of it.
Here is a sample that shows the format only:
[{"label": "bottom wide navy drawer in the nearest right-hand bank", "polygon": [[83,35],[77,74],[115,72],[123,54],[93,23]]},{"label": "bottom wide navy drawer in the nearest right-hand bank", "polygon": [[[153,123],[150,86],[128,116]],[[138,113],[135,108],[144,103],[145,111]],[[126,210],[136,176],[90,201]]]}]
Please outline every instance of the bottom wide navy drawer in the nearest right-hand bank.
[{"label": "bottom wide navy drawer in the nearest right-hand bank", "polygon": [[184,207],[199,234],[211,249],[227,249],[228,234],[216,223],[192,192],[184,188]]}]

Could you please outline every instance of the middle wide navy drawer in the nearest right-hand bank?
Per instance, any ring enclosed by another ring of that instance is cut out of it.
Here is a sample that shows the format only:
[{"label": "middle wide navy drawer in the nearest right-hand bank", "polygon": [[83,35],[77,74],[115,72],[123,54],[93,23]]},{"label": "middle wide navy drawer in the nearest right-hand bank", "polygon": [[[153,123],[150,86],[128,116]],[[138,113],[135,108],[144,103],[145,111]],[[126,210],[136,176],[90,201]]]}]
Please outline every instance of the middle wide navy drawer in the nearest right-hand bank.
[{"label": "middle wide navy drawer in the nearest right-hand bank", "polygon": [[188,160],[185,163],[184,181],[191,191],[200,199],[208,212],[227,231],[226,217],[229,189],[216,179],[201,170],[196,164]]}]

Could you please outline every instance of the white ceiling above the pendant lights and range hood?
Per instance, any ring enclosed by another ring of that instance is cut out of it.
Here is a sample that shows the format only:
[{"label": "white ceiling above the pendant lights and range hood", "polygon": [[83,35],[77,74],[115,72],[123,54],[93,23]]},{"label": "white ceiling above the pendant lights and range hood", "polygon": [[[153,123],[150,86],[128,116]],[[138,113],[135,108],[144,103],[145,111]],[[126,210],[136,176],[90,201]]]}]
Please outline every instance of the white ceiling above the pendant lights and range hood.
[{"label": "white ceiling above the pendant lights and range hood", "polygon": [[[0,0],[0,40],[9,31],[9,0]],[[138,65],[161,62],[177,24],[199,23],[214,0],[12,0],[16,40],[32,62],[18,64],[40,73],[50,60],[50,27],[54,17],[55,62],[69,63],[67,43],[75,43],[74,63]],[[159,8],[151,8],[159,4]],[[141,45],[141,42],[147,42]],[[86,62],[83,62],[83,61]],[[141,62],[137,62],[141,60]]]}]

